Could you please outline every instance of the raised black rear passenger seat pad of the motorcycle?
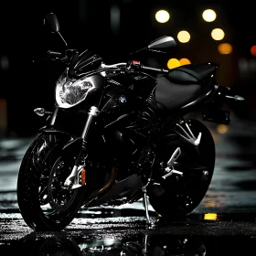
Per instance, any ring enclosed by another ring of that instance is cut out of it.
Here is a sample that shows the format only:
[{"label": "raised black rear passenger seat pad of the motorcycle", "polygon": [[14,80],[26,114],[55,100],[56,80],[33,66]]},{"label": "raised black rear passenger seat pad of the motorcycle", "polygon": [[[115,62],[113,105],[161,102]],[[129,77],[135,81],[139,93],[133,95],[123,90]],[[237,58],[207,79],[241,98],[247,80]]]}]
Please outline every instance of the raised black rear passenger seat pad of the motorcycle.
[{"label": "raised black rear passenger seat pad of the motorcycle", "polygon": [[171,69],[166,78],[177,83],[201,83],[208,76],[214,74],[218,67],[216,63],[211,62],[184,65]]}]

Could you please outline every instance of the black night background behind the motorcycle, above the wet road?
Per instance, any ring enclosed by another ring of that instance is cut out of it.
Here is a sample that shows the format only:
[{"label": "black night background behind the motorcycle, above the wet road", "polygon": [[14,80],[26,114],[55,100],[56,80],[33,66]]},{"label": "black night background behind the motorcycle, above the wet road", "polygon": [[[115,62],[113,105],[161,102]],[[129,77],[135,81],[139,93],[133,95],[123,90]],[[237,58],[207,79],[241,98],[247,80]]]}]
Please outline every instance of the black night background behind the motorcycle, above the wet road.
[{"label": "black night background behind the motorcycle, above the wet road", "polygon": [[[179,43],[166,58],[218,62],[219,83],[246,99],[239,107],[231,105],[233,111],[240,118],[256,121],[256,57],[250,52],[256,45],[256,12],[251,1],[29,0],[2,1],[0,5],[0,138],[37,133],[42,120],[33,110],[44,107],[50,111],[53,106],[54,83],[62,69],[55,64],[32,63],[48,49],[64,48],[60,37],[44,27],[49,12],[58,16],[60,33],[69,48],[90,48],[106,64],[126,61],[129,52],[143,48],[156,37],[176,37],[179,30],[186,29],[191,34],[189,43]],[[111,27],[113,6],[120,8],[119,31]],[[216,21],[203,21],[201,14],[206,8],[217,12]],[[155,21],[159,9],[171,14],[165,24]],[[231,54],[219,54],[220,42],[210,37],[215,27],[225,31],[221,42],[232,45]]]}]

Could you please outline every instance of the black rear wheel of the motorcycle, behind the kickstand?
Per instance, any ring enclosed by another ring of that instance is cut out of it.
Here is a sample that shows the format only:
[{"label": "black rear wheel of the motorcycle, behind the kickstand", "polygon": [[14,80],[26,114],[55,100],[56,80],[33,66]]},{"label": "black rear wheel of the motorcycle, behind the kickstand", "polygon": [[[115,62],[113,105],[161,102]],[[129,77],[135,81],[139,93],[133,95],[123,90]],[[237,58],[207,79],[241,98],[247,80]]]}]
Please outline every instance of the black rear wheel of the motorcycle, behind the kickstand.
[{"label": "black rear wheel of the motorcycle, behind the kickstand", "polygon": [[215,166],[215,143],[208,128],[195,119],[187,124],[196,136],[201,133],[200,143],[196,146],[187,143],[179,135],[166,138],[162,160],[166,163],[179,147],[181,154],[173,168],[182,173],[166,177],[159,171],[158,186],[149,187],[149,201],[155,211],[164,219],[183,219],[191,213],[205,197]]}]

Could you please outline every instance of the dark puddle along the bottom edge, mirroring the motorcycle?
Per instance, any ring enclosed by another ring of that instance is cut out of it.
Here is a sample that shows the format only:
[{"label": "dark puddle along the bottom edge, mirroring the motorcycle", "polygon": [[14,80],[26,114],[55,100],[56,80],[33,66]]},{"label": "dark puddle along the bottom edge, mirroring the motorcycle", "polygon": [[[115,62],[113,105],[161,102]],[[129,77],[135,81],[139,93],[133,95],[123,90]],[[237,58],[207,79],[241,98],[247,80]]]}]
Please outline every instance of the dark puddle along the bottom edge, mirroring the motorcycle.
[{"label": "dark puddle along the bottom edge, mirroring the motorcycle", "polygon": [[[253,255],[255,238],[242,237],[223,240],[222,237],[191,237],[186,235],[134,234],[129,238],[95,239],[74,238],[67,234],[47,238],[28,235],[20,251],[29,255]],[[237,253],[234,252],[237,249]],[[242,253],[242,254],[239,254]]]}]

